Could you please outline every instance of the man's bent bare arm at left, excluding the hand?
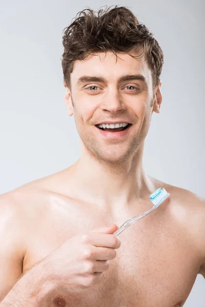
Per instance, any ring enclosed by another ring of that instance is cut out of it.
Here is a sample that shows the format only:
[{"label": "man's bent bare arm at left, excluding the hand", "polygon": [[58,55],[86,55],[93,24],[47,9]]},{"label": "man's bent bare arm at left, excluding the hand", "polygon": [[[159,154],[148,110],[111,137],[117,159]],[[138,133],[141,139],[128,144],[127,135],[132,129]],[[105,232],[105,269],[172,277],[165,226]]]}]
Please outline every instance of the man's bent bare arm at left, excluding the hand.
[{"label": "man's bent bare arm at left, excluding the hand", "polygon": [[39,306],[51,290],[48,261],[44,259],[22,277],[27,250],[23,215],[10,194],[0,196],[0,307]]}]

